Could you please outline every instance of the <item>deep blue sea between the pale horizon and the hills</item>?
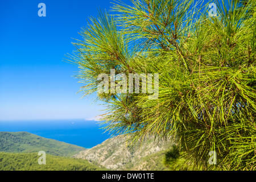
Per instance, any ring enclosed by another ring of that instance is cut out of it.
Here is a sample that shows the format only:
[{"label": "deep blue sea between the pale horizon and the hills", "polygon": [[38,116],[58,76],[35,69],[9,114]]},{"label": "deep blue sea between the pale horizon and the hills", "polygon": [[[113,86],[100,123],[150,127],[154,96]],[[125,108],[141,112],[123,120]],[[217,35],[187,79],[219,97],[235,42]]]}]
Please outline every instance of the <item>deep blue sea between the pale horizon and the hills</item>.
[{"label": "deep blue sea between the pale horizon and the hills", "polygon": [[96,121],[79,119],[58,121],[0,121],[0,131],[27,131],[40,137],[92,148],[110,135]]}]

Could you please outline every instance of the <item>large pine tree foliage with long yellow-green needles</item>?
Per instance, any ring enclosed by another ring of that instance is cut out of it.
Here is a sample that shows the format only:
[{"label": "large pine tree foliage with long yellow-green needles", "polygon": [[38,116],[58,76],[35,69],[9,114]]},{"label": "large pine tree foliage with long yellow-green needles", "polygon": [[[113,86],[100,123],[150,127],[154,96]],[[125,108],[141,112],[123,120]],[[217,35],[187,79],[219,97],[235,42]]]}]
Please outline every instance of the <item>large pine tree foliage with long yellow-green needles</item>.
[{"label": "large pine tree foliage with long yellow-green needles", "polygon": [[195,169],[255,170],[255,1],[213,2],[217,16],[192,0],[131,2],[114,2],[114,15],[90,19],[73,43],[85,94],[110,69],[159,74],[156,100],[98,93],[106,130],[139,141],[171,137]]}]

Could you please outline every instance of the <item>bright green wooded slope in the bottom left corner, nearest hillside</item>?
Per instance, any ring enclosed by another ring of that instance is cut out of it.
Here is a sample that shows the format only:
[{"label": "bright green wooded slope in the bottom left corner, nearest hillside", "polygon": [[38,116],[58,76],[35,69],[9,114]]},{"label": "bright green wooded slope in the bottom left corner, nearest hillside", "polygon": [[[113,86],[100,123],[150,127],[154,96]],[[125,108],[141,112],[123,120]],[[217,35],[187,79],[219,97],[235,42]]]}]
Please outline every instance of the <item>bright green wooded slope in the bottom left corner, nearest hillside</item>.
[{"label": "bright green wooded slope in the bottom left corner, nearest hillside", "polygon": [[95,171],[104,170],[87,160],[46,155],[46,164],[39,165],[37,153],[0,152],[0,171]]}]

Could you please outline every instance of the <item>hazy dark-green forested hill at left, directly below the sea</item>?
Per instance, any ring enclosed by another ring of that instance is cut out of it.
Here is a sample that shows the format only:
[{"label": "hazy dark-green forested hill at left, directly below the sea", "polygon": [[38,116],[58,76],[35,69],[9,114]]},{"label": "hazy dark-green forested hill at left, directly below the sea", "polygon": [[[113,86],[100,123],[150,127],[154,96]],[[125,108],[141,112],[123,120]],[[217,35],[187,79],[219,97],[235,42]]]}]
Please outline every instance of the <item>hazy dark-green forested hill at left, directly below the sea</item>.
[{"label": "hazy dark-green forested hill at left, directly below the sea", "polygon": [[85,150],[53,139],[39,137],[27,132],[0,132],[0,152],[29,153],[45,151],[46,154],[72,156]]}]

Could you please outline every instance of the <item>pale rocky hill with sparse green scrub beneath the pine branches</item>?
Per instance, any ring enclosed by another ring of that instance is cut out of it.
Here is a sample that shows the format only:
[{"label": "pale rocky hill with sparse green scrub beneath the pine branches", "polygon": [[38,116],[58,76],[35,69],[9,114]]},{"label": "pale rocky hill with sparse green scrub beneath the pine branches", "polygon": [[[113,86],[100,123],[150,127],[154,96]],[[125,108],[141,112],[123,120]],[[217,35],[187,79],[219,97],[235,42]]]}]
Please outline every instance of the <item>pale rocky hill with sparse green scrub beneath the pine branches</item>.
[{"label": "pale rocky hill with sparse green scrub beneath the pine branches", "polygon": [[170,141],[155,142],[147,138],[141,146],[129,145],[127,138],[121,136],[110,138],[97,146],[74,155],[78,159],[104,166],[112,170],[168,170],[164,158],[172,148]]}]

